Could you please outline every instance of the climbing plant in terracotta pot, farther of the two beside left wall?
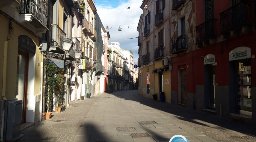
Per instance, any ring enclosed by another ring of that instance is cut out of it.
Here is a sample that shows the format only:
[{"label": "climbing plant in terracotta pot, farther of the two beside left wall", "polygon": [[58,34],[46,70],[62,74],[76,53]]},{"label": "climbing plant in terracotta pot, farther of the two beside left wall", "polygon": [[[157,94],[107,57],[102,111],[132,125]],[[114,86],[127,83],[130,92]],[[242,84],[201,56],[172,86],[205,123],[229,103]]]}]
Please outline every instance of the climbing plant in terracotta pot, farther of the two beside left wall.
[{"label": "climbing plant in terracotta pot, farther of the two beside left wall", "polygon": [[61,112],[61,106],[64,104],[64,93],[63,93],[63,84],[65,83],[65,77],[63,75],[63,71],[58,72],[55,76],[56,80],[56,99],[55,99],[55,104],[57,105],[55,107],[56,113]]}]

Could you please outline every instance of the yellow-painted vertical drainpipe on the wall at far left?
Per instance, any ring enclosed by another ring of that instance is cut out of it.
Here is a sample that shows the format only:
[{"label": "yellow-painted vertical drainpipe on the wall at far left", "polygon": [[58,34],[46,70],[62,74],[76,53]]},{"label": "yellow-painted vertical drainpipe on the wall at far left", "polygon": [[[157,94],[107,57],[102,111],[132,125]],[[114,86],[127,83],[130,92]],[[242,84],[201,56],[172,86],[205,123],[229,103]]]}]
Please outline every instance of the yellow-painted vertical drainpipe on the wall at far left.
[{"label": "yellow-painted vertical drainpipe on the wall at far left", "polygon": [[3,66],[3,85],[2,85],[2,97],[4,101],[8,99],[5,96],[6,93],[6,71],[7,71],[7,50],[8,50],[8,41],[4,41],[4,66]]}]

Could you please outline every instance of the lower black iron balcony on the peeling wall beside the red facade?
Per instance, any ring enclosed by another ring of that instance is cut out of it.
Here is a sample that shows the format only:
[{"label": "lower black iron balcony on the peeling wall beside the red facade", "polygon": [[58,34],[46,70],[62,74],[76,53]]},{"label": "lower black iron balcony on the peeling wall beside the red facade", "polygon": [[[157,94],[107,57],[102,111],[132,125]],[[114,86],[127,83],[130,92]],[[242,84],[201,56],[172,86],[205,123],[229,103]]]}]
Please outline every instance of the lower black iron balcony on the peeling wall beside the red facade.
[{"label": "lower black iron balcony on the peeling wall beside the red facade", "polygon": [[179,52],[187,49],[188,49],[187,35],[180,35],[176,39],[172,40],[172,54],[178,54]]}]

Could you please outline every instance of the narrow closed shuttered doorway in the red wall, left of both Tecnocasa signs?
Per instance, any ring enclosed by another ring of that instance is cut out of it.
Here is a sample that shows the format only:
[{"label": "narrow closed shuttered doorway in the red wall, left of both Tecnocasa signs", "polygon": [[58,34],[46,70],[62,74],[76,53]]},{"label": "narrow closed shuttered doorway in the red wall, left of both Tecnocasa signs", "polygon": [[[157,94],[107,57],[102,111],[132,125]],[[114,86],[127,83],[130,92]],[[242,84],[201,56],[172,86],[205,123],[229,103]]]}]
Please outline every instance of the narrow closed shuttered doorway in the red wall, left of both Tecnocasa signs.
[{"label": "narrow closed shuttered doorway in the red wall, left of both Tecnocasa signs", "polygon": [[187,76],[186,68],[179,69],[179,103],[187,105]]}]

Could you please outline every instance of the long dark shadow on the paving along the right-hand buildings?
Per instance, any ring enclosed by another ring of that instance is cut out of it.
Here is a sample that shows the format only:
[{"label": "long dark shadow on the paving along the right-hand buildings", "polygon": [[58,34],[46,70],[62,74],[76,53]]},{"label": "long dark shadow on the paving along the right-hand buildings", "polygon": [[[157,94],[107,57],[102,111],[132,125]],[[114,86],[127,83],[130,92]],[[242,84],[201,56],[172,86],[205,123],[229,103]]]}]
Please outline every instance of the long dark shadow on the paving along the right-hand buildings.
[{"label": "long dark shadow on the paving along the right-hand buildings", "polygon": [[170,113],[173,117],[182,121],[188,121],[191,123],[196,123],[198,125],[219,129],[223,132],[229,129],[256,137],[255,125],[240,123],[228,118],[216,116],[202,111],[185,108],[167,102],[153,100],[141,96],[140,94],[138,94],[138,90],[130,90],[129,93],[127,91],[114,91],[112,94],[115,96],[119,96],[121,99],[137,101],[140,104],[146,105],[148,107]]}]

